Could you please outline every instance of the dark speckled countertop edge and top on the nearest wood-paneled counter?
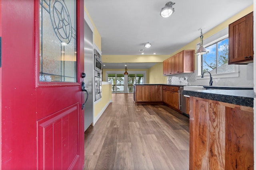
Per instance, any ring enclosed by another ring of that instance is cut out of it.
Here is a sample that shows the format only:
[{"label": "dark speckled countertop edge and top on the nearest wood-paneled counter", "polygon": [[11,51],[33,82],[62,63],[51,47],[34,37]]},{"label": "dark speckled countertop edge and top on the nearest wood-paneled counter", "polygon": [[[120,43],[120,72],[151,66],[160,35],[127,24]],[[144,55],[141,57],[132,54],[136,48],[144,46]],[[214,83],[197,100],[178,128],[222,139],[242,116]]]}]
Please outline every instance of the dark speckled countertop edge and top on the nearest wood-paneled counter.
[{"label": "dark speckled countertop edge and top on the nearest wood-paneled counter", "polygon": [[183,95],[253,107],[254,90],[183,90]]}]

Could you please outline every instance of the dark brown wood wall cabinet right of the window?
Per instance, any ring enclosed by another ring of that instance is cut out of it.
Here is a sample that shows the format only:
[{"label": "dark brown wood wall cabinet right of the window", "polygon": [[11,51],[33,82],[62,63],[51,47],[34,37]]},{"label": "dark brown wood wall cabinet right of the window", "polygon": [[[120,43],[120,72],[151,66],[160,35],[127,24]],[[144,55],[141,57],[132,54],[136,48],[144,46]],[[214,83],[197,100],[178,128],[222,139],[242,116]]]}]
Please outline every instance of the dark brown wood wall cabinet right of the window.
[{"label": "dark brown wood wall cabinet right of the window", "polygon": [[253,62],[253,12],[228,27],[228,64]]}]

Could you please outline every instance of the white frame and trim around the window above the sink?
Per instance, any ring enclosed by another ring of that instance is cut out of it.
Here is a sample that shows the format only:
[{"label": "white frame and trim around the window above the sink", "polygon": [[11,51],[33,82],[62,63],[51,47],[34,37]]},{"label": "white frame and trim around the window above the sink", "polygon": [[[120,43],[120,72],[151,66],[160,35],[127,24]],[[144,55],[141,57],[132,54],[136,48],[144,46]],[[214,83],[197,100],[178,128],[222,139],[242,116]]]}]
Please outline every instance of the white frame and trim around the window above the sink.
[{"label": "white frame and trim around the window above the sink", "polygon": [[[204,47],[207,47],[226,38],[228,38],[228,27],[212,35],[211,37],[204,39],[203,45]],[[196,49],[198,48],[199,48],[199,43],[196,45]],[[202,76],[202,56],[201,55],[196,55],[196,64],[197,64],[196,79],[202,79],[201,77]],[[239,77],[239,65],[235,64],[234,67],[235,67],[234,72],[217,73],[217,74],[212,74],[212,76],[214,76],[214,78]],[[206,74],[204,78],[210,78],[210,75]]]}]

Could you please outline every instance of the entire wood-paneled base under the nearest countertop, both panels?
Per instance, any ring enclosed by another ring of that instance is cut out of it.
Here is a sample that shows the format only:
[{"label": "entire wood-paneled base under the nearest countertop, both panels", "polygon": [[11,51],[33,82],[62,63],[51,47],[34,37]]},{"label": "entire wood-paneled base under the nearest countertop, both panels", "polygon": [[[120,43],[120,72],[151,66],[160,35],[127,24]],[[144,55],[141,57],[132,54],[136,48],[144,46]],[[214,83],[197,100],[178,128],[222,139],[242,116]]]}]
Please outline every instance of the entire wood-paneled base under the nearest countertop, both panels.
[{"label": "entire wood-paneled base under the nearest countertop, both panels", "polygon": [[253,108],[190,96],[190,170],[253,170]]}]

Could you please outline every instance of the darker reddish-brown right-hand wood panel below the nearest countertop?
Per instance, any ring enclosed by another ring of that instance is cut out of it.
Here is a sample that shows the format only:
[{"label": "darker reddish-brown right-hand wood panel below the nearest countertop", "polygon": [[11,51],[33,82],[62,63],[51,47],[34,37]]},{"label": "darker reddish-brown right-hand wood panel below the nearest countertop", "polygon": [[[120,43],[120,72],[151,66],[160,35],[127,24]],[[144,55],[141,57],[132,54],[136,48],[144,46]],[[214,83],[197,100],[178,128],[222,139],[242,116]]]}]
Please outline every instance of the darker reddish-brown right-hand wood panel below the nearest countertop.
[{"label": "darker reddish-brown right-hand wood panel below the nearest countertop", "polygon": [[254,169],[253,113],[226,107],[226,169]]}]

